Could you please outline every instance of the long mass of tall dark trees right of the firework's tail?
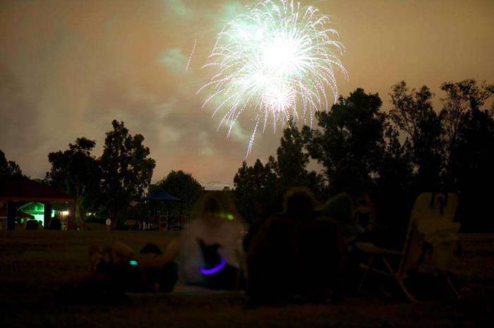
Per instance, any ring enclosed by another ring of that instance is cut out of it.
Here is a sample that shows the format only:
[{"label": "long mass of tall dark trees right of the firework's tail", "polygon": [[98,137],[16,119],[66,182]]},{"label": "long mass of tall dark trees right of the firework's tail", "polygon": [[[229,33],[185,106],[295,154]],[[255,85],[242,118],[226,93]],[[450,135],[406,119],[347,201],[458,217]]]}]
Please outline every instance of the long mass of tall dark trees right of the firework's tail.
[{"label": "long mass of tall dark trees right of the firework's tail", "polygon": [[[392,86],[390,111],[363,89],[316,114],[317,128],[284,129],[276,157],[246,162],[234,178],[234,197],[248,223],[279,211],[291,186],[307,186],[320,201],[347,192],[369,195],[378,228],[406,226],[411,205],[424,191],[456,192],[462,231],[494,231],[494,85],[475,80],[444,83],[442,108],[426,86]],[[323,166],[307,169],[310,160]]]}]

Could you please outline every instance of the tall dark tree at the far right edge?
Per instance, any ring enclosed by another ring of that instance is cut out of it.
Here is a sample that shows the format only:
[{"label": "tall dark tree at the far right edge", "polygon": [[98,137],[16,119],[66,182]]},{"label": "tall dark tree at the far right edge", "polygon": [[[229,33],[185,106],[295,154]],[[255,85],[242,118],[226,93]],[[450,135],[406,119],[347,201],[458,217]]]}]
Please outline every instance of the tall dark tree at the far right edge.
[{"label": "tall dark tree at the far right edge", "polygon": [[460,196],[463,231],[494,231],[490,202],[494,198],[493,111],[482,110],[494,85],[476,80],[444,83],[442,116],[446,130],[447,189]]}]

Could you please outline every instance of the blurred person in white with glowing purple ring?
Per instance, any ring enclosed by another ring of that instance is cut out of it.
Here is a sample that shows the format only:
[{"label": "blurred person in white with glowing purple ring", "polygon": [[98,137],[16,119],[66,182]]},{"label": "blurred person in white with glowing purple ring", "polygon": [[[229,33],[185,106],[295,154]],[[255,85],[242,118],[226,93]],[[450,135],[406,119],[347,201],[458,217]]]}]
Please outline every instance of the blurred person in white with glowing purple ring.
[{"label": "blurred person in white with glowing purple ring", "polygon": [[181,234],[181,277],[186,284],[234,289],[241,277],[243,224],[231,202],[213,195],[205,195],[199,208]]}]

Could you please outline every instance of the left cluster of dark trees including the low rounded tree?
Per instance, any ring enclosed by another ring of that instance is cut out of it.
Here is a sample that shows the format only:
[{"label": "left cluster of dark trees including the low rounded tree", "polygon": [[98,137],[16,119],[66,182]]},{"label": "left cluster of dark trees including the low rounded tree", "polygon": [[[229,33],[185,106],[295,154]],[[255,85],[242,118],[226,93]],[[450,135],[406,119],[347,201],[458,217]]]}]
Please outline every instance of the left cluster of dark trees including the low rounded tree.
[{"label": "left cluster of dark trees including the low rounded tree", "polygon": [[[112,121],[112,128],[106,133],[99,158],[92,154],[95,141],[87,138],[77,138],[68,150],[48,154],[52,168],[44,183],[75,198],[78,224],[109,218],[113,225],[121,225],[126,219],[146,218],[149,207],[143,198],[156,188],[163,188],[181,200],[167,209],[190,216],[203,191],[200,183],[191,174],[170,171],[152,185],[155,159],[150,157],[143,135],[131,135],[119,121]],[[86,217],[88,213],[92,213],[91,217]]]}]

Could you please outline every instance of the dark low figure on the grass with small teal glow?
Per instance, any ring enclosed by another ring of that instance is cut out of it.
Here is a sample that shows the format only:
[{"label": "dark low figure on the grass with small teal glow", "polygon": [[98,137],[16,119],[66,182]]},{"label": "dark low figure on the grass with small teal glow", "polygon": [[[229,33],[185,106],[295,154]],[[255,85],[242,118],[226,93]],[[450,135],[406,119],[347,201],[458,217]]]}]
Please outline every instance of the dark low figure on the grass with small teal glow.
[{"label": "dark low figure on the grass with small teal glow", "polygon": [[71,277],[58,297],[64,303],[121,303],[128,291],[169,292],[178,280],[174,244],[171,241],[164,252],[147,244],[138,254],[123,243],[92,245],[89,271]]}]

